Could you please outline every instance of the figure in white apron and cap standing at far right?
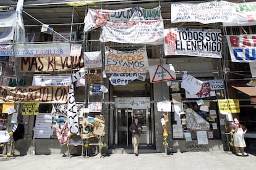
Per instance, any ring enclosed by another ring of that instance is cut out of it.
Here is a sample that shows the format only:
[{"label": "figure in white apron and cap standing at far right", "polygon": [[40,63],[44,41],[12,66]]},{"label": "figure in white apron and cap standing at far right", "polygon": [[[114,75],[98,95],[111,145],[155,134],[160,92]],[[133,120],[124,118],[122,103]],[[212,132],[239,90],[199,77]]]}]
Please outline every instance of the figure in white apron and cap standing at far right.
[{"label": "figure in white apron and cap standing at far right", "polygon": [[231,126],[231,132],[233,132],[234,147],[236,149],[237,156],[248,156],[244,152],[246,147],[244,134],[247,132],[247,129],[244,125],[240,124],[237,118],[234,118],[233,125]]}]

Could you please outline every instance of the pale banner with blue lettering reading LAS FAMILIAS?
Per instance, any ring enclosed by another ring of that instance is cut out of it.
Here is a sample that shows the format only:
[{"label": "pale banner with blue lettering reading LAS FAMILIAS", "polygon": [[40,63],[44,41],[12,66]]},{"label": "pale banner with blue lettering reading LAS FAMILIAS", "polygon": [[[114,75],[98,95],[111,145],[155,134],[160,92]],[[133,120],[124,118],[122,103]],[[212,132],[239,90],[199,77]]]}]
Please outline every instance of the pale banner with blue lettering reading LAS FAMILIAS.
[{"label": "pale banner with blue lettering reading LAS FAMILIAS", "polygon": [[69,43],[15,44],[15,57],[69,57]]}]

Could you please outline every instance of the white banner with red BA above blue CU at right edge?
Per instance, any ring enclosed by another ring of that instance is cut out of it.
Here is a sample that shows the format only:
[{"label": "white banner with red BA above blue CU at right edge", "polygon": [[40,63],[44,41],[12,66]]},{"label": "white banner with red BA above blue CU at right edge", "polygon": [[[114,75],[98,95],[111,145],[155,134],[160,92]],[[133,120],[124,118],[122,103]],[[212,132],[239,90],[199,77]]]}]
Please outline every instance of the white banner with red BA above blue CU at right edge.
[{"label": "white banner with red BA above blue CU at right edge", "polygon": [[232,62],[256,62],[256,34],[226,35]]}]

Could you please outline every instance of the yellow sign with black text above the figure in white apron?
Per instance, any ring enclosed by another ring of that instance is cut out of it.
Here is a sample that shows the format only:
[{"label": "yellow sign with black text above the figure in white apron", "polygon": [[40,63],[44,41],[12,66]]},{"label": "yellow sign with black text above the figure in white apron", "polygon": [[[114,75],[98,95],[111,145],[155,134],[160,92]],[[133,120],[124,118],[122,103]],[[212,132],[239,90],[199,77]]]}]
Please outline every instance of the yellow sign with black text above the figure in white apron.
[{"label": "yellow sign with black text above the figure in white apron", "polygon": [[240,105],[238,99],[220,99],[218,100],[218,108],[220,113],[223,115],[228,113],[240,113]]}]

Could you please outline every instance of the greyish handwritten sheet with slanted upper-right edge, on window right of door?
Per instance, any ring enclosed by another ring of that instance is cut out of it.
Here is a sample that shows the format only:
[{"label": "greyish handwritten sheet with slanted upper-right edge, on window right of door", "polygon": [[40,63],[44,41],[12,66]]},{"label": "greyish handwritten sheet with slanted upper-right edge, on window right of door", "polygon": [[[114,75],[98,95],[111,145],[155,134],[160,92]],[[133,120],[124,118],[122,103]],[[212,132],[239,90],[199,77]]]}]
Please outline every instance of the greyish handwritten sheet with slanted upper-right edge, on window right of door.
[{"label": "greyish handwritten sheet with slanted upper-right edge, on window right of door", "polygon": [[210,128],[210,124],[197,114],[192,108],[186,109],[187,128],[195,130],[205,130]]}]

